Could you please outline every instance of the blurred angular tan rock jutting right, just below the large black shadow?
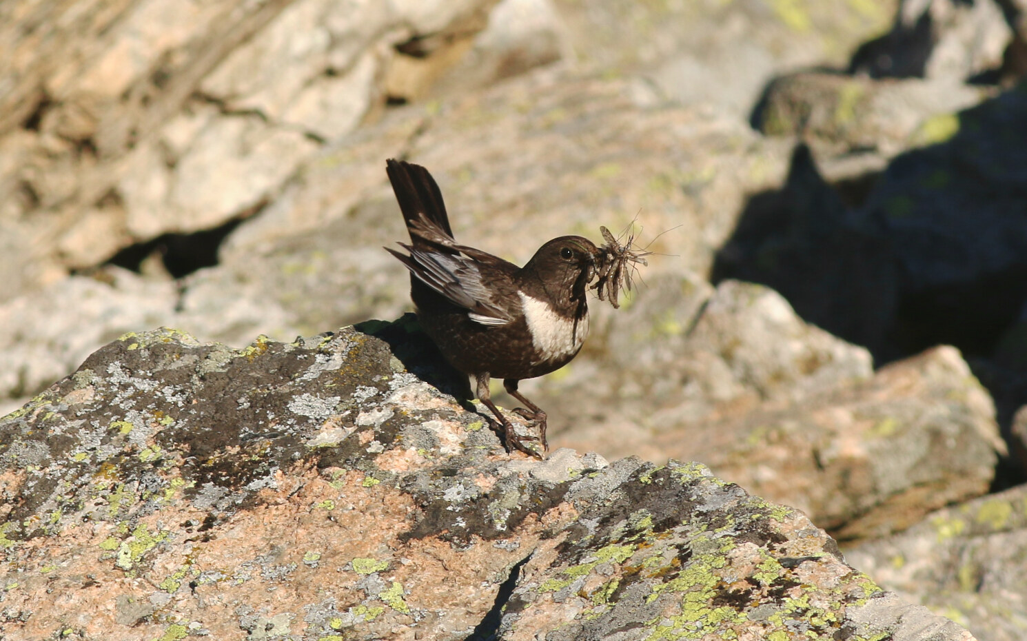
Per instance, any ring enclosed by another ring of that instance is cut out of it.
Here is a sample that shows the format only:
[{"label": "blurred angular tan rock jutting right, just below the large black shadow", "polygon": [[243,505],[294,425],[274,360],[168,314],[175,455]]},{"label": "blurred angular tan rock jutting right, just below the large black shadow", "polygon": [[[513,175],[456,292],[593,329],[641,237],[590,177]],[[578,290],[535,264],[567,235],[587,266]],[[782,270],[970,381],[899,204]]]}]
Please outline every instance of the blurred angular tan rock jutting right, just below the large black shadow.
[{"label": "blurred angular tan rock jutting right, just below the large black shadow", "polygon": [[994,412],[959,352],[939,347],[800,401],[660,425],[652,447],[866,538],[986,493],[1005,451]]}]

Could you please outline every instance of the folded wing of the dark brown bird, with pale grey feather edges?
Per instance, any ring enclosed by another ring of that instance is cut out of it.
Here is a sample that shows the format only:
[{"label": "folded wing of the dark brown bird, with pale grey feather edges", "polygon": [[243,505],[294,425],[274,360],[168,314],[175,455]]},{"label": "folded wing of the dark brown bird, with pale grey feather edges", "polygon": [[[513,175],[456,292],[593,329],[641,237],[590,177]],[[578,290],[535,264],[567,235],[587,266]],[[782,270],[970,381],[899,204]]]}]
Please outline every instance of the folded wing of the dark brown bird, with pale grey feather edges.
[{"label": "folded wing of the dark brown bird, with pale grey feather edges", "polygon": [[[402,242],[400,244],[410,252],[410,256],[385,249],[400,259],[419,280],[454,305],[466,309],[471,320],[482,325],[506,325],[514,319],[507,310],[494,302],[492,290],[482,273],[484,266],[472,257],[415,248]],[[455,242],[446,247],[461,252],[466,249],[491,257]]]}]

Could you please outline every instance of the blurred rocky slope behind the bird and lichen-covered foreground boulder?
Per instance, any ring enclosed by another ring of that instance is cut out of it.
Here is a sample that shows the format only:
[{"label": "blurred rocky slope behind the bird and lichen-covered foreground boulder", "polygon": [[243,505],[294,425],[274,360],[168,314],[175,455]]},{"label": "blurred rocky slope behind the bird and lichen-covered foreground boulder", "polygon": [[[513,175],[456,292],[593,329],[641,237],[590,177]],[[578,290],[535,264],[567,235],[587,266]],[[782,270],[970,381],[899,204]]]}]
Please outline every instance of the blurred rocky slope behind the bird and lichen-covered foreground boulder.
[{"label": "blurred rocky slope behind the bird and lichen-covered foreground boulder", "polygon": [[0,60],[0,410],[127,331],[397,316],[403,157],[468,244],[660,254],[524,383],[555,447],[702,461],[1027,635],[1027,2],[15,0]]}]

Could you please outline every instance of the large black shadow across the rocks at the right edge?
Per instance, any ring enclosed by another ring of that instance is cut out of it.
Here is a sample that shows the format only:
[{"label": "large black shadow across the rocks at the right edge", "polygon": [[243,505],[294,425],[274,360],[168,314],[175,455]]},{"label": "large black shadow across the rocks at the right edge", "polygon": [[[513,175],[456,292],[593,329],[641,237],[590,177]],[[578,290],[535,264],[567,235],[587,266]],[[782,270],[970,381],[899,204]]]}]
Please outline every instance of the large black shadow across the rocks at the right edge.
[{"label": "large black shadow across the rocks at the right edge", "polygon": [[1024,113],[1021,83],[951,116],[939,142],[895,157],[860,206],[798,145],[786,184],[749,199],[712,280],[774,288],[878,365],[959,347],[1009,437],[1027,403],[1027,346],[1016,340],[1027,325]]}]

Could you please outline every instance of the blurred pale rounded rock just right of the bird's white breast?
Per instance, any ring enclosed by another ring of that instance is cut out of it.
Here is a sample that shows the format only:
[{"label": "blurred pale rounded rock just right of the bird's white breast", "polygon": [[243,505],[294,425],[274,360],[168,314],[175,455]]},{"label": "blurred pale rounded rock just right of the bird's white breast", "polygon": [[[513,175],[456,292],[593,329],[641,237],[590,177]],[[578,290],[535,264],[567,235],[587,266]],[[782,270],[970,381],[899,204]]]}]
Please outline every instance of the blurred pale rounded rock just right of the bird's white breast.
[{"label": "blurred pale rounded rock just right of the bird's white breast", "polygon": [[554,443],[659,460],[660,433],[873,373],[865,349],[806,325],[772,290],[670,274],[647,284],[623,309],[596,310],[586,362],[522,384],[546,408]]}]

